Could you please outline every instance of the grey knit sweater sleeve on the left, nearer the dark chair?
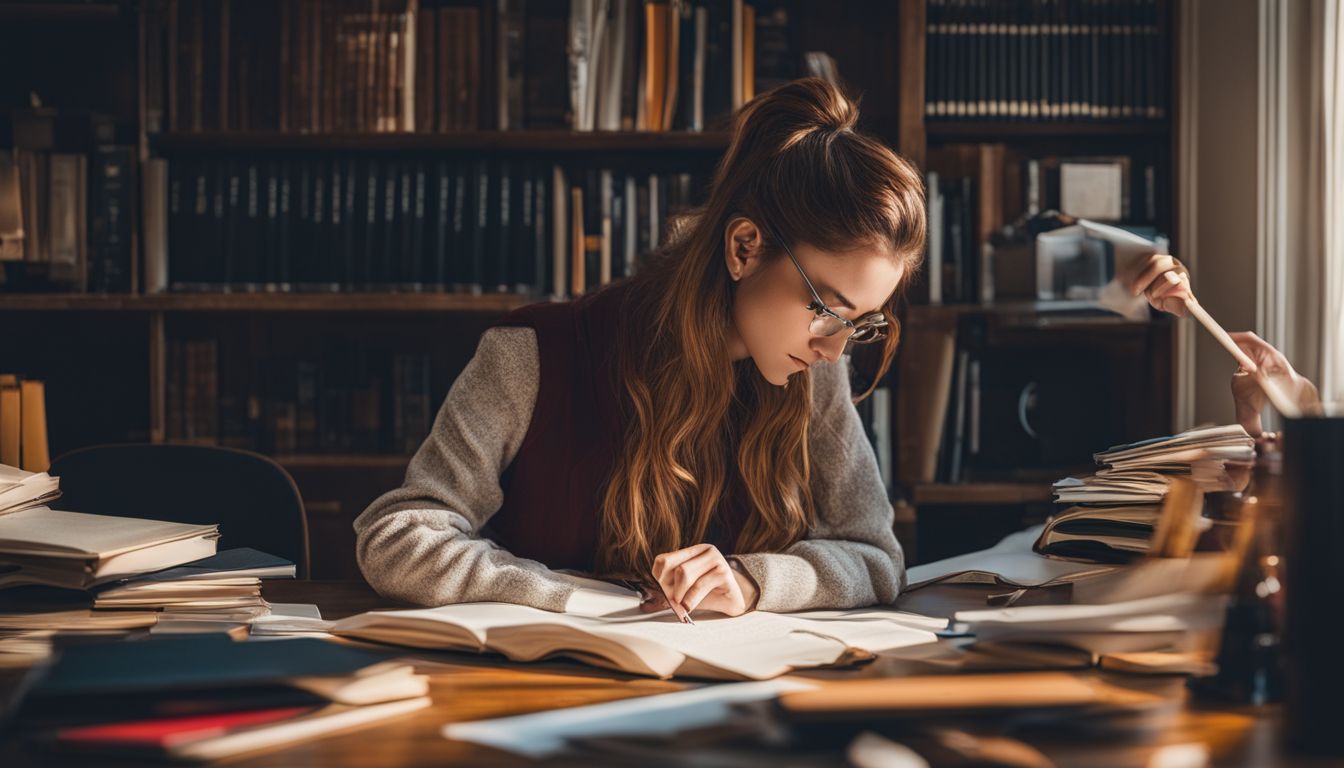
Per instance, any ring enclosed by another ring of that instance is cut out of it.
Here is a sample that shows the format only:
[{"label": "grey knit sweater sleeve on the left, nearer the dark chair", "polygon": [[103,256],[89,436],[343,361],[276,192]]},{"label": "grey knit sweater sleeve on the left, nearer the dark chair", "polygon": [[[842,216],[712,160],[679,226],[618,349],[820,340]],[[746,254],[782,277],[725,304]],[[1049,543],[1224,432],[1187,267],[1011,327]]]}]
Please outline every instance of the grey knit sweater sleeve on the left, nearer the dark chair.
[{"label": "grey knit sweater sleeve on the left, nearer the dark chair", "polygon": [[503,504],[499,479],[527,434],[539,379],[535,331],[492,328],[481,336],[402,487],[355,519],[359,568],[380,594],[419,605],[564,609],[574,578],[478,535]]}]

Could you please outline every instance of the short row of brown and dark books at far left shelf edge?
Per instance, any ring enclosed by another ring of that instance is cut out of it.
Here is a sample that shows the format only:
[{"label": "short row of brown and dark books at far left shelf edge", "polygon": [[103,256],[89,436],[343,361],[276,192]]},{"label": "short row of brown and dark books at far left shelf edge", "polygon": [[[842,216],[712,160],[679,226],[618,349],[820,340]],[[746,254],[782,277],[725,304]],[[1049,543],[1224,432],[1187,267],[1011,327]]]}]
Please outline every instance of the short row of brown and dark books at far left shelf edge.
[{"label": "short row of brown and dark books at far left shelf edge", "polygon": [[0,152],[0,285],[132,288],[134,148]]}]

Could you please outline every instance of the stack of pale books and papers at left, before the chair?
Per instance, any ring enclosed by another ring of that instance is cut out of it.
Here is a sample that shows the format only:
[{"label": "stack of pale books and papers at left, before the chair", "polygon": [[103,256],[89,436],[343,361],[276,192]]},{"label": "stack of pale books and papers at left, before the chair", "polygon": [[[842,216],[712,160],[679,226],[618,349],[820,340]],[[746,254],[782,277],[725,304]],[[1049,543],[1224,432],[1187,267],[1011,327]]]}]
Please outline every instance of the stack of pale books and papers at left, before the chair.
[{"label": "stack of pale books and papers at left, before the chair", "polygon": [[271,613],[261,578],[294,565],[215,551],[218,526],[34,507],[0,515],[0,656],[26,663],[70,635],[227,632]]}]

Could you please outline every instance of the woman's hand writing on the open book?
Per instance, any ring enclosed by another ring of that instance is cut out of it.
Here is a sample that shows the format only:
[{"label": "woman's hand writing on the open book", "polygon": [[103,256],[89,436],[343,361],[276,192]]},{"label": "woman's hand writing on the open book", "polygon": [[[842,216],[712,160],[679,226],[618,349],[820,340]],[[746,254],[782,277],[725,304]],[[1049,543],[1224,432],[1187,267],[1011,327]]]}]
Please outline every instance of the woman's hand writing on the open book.
[{"label": "woman's hand writing on the open book", "polygon": [[655,557],[653,578],[663,588],[663,594],[645,599],[640,608],[646,612],[667,609],[667,600],[671,600],[687,613],[703,608],[726,616],[741,616],[755,607],[759,596],[755,582],[734,570],[723,553],[710,543]]}]

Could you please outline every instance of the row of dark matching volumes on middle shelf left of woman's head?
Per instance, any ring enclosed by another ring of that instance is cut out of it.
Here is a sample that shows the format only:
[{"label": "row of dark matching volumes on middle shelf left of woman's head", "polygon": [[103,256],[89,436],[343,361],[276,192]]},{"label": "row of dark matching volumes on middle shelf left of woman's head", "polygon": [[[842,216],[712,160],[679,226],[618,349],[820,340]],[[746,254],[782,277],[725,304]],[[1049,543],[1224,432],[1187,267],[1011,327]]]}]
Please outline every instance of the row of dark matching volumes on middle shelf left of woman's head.
[{"label": "row of dark matching volumes on middle shelf left of woman's head", "polygon": [[156,159],[146,291],[577,296],[632,274],[699,192],[684,172],[508,157]]}]

